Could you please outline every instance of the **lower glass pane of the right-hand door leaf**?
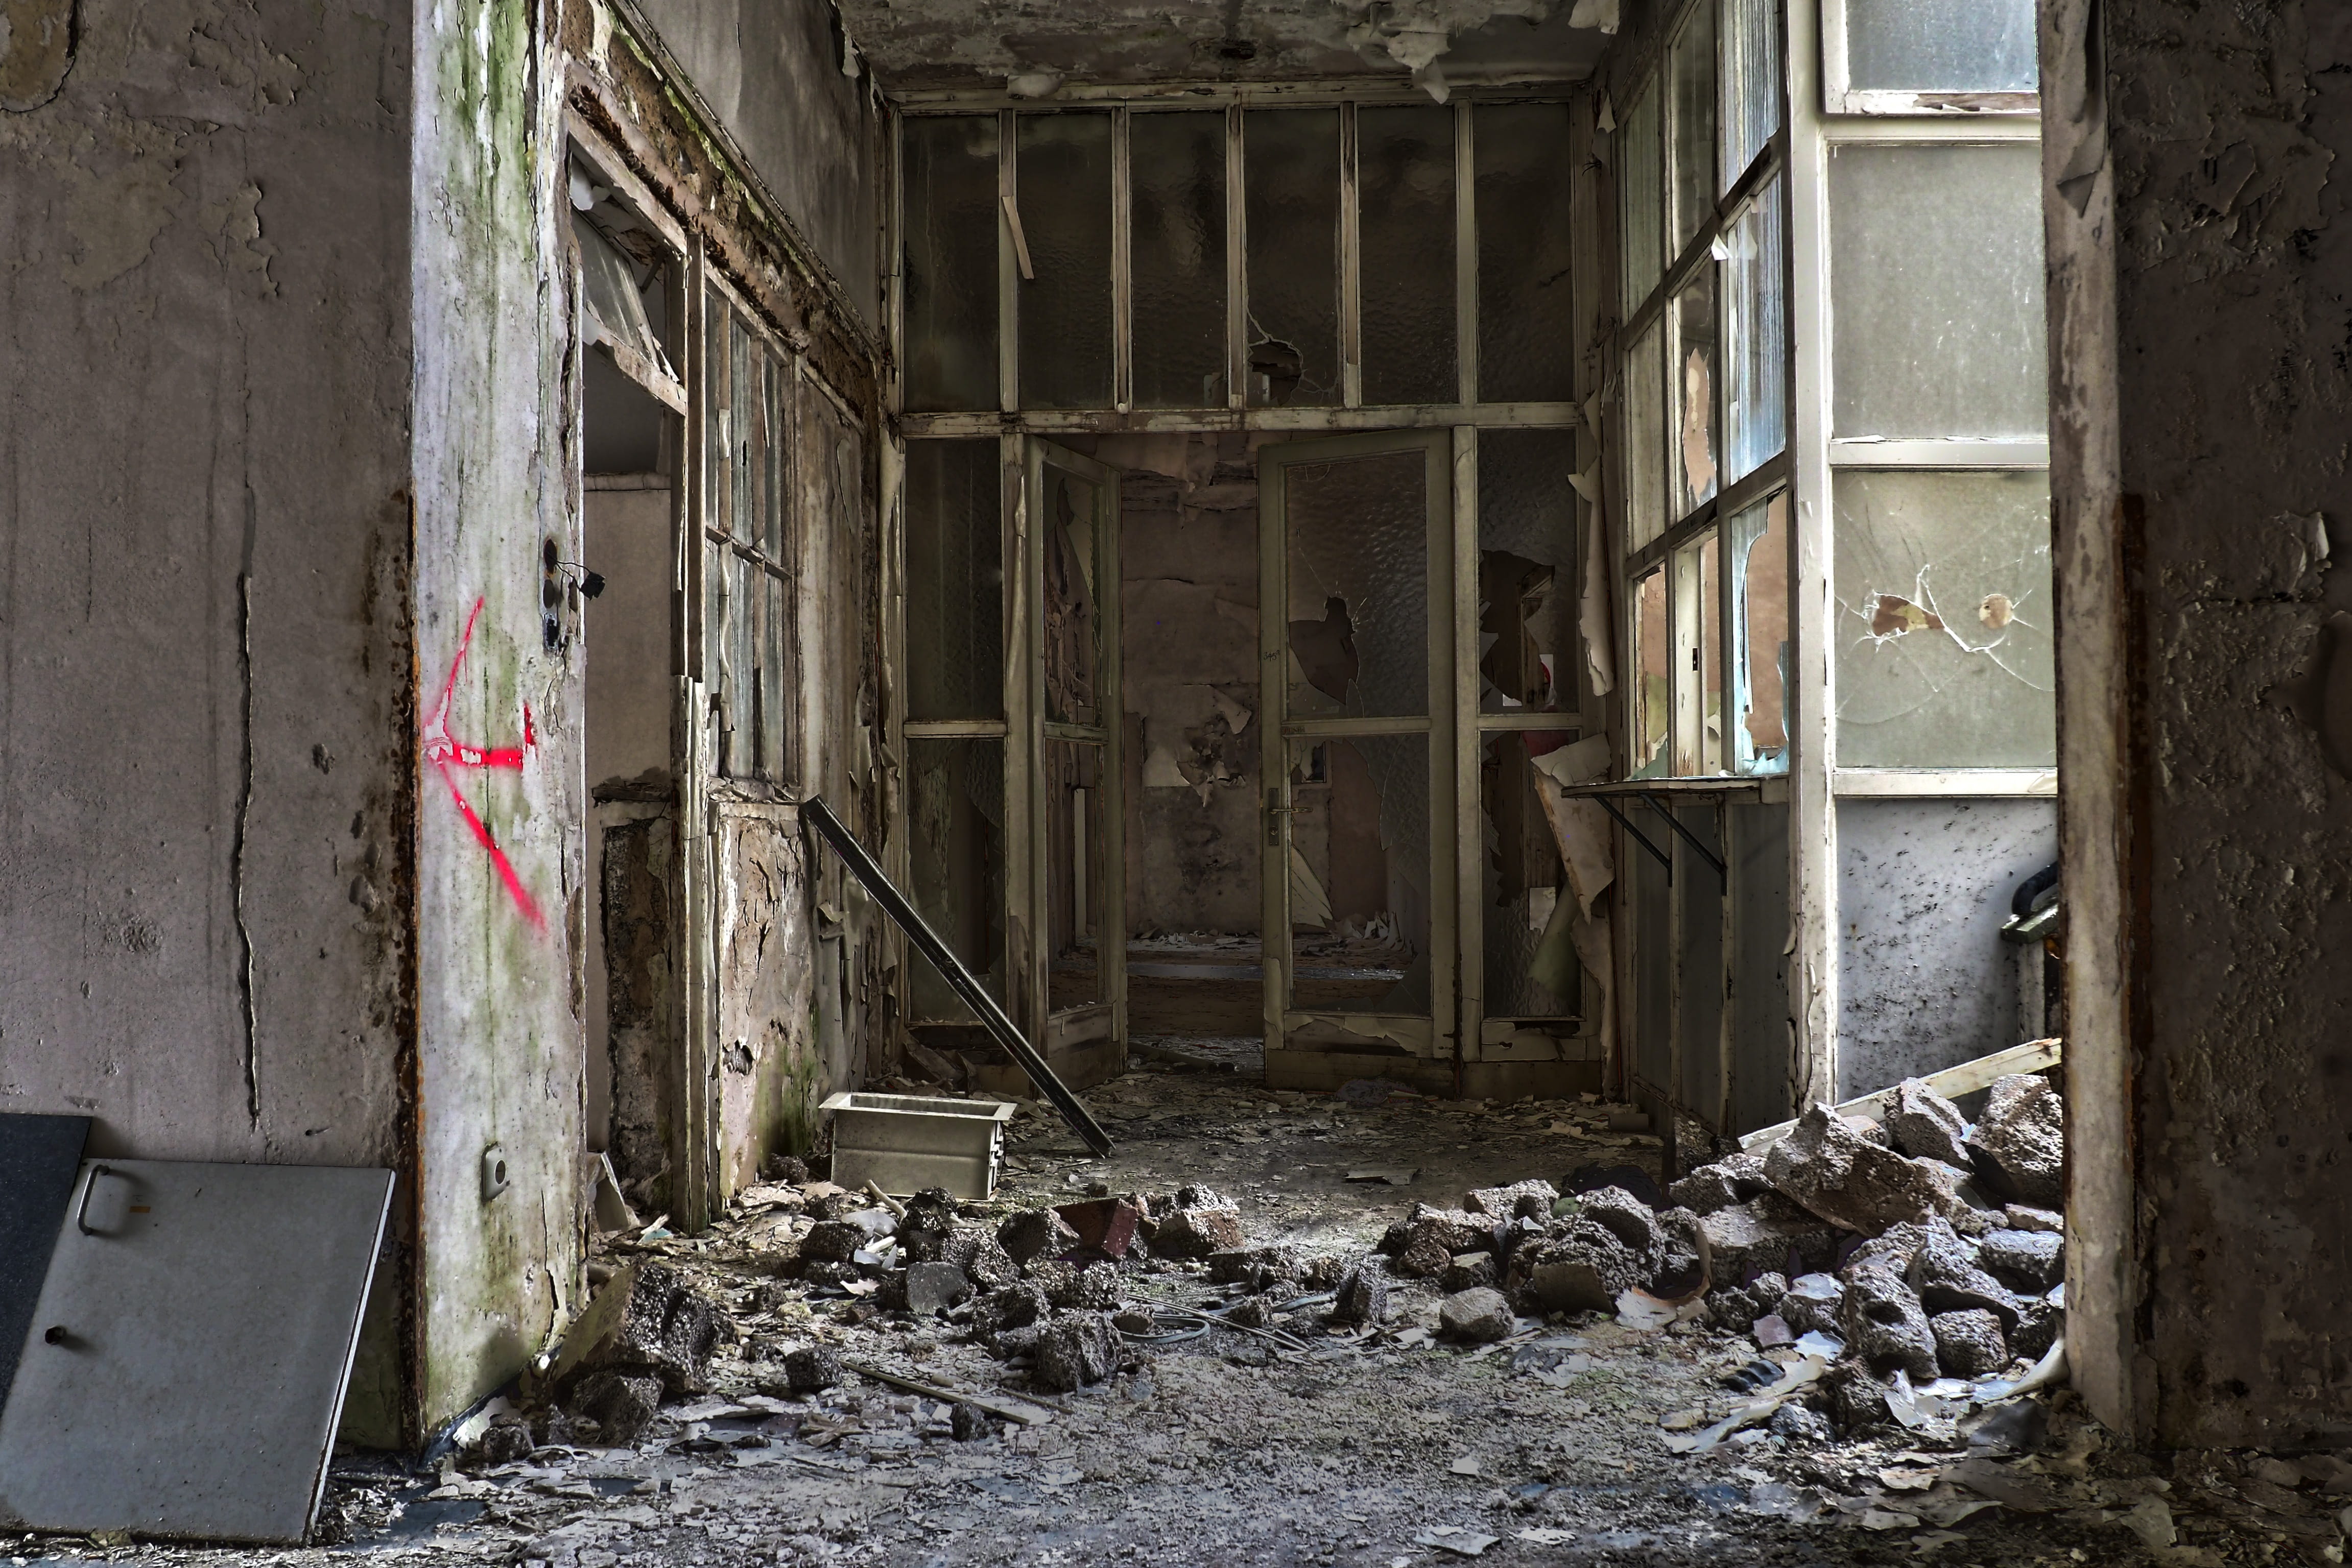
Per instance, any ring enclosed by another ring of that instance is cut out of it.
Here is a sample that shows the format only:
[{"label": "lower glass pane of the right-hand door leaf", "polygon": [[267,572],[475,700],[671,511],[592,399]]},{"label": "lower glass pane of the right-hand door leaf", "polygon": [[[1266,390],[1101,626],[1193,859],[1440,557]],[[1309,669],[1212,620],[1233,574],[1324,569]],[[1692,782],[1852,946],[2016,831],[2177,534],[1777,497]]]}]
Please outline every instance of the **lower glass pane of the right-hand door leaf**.
[{"label": "lower glass pane of the right-hand door leaf", "polygon": [[1348,736],[1315,750],[1329,832],[1291,839],[1291,1006],[1428,1016],[1430,738]]}]

